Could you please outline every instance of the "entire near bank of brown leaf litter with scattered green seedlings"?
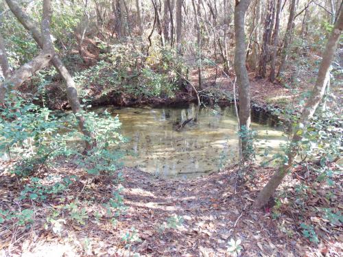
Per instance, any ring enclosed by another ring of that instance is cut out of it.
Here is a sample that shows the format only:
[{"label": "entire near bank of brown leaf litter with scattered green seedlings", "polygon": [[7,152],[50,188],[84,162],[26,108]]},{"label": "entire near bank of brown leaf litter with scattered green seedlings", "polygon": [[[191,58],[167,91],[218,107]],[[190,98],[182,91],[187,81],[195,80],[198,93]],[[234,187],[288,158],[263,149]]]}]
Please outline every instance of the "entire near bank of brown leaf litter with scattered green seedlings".
[{"label": "entire near bank of brown leaf litter with scattered green seedlings", "polygon": [[[255,184],[237,183],[236,171],[184,181],[123,168],[114,182],[63,162],[34,182],[3,171],[0,256],[340,256],[342,219],[332,213],[342,210],[342,187],[322,195],[323,184],[298,170],[283,184],[296,190],[257,212],[253,199],[274,170],[252,167]],[[300,192],[300,182],[316,193]]]}]

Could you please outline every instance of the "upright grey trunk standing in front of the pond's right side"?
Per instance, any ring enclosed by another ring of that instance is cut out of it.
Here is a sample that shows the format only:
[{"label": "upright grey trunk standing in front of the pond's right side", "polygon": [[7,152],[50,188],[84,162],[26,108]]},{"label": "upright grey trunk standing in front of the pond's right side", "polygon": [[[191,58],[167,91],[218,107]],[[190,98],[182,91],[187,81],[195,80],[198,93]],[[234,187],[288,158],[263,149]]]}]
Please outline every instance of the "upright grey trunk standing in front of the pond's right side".
[{"label": "upright grey trunk standing in front of the pond's right side", "polygon": [[[250,128],[250,84],[248,71],[246,70],[246,34],[244,29],[244,18],[251,0],[236,0],[235,6],[235,73],[239,86],[239,125],[240,128]],[[241,138],[243,154],[246,151],[247,142]],[[243,156],[245,158],[245,156]]]}]

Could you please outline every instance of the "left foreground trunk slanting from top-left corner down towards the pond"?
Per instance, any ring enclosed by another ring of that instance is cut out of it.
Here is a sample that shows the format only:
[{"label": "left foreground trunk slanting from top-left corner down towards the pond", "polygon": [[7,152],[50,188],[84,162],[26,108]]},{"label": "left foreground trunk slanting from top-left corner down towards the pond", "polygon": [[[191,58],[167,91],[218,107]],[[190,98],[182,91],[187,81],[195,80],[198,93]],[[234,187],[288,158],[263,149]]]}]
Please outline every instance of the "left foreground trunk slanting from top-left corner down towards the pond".
[{"label": "left foreground trunk slanting from top-left corner down towards the pond", "polygon": [[[32,33],[32,37],[37,42],[40,48],[43,49],[43,38],[39,32],[39,29],[34,25],[34,23],[29,19],[29,16],[25,14],[25,12],[21,9],[19,3],[15,0],[5,0],[8,4],[8,7],[16,16],[16,19],[27,29],[29,32]],[[93,140],[93,135],[91,132],[88,132],[88,130],[85,127],[85,119],[82,115],[82,108],[80,106],[80,101],[78,99],[78,91],[75,87],[75,82],[73,80],[73,77],[69,74],[69,71],[67,68],[63,65],[60,58],[58,58],[57,54],[51,59],[52,64],[54,64],[56,70],[60,75],[63,77],[64,81],[67,85],[67,98],[69,101],[69,104],[71,106],[71,110],[73,110],[74,114],[76,115],[76,118],[78,119],[78,125],[80,127],[80,130],[88,138],[88,140],[85,140],[85,150],[89,151],[92,149],[93,145],[95,145],[95,141]],[[90,141],[93,140],[93,145],[90,143]]]}]

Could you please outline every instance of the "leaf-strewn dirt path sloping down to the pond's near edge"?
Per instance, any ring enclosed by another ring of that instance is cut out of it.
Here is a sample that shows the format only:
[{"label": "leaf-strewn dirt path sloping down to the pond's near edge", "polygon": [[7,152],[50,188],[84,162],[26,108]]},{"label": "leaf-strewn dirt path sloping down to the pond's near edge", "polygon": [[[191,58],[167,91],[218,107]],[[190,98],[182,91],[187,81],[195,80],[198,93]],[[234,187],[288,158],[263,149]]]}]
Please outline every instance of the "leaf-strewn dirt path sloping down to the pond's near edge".
[{"label": "leaf-strewn dirt path sloping down to the pond's near edge", "polygon": [[[140,194],[135,194],[132,187],[137,186],[142,178],[131,182],[125,197],[130,206],[129,213],[143,216],[138,224],[138,230],[145,231],[142,236],[144,247],[139,247],[141,253],[152,253],[152,256],[226,256],[230,238],[240,238],[244,252],[255,256],[261,252],[255,247],[256,239],[270,236],[274,238],[274,244],[279,245],[279,251],[284,252],[287,249],[283,245],[285,242],[278,243],[272,232],[273,225],[268,221],[259,224],[256,214],[250,216],[250,193],[237,188],[235,194],[236,179],[234,173],[226,171],[192,181],[152,180],[141,185]],[[156,231],[173,215],[183,218],[181,226]],[[265,234],[260,225],[271,226],[268,231],[272,234]],[[252,227],[259,229],[251,230]],[[269,248],[268,245],[265,249],[268,256],[272,254]]]}]

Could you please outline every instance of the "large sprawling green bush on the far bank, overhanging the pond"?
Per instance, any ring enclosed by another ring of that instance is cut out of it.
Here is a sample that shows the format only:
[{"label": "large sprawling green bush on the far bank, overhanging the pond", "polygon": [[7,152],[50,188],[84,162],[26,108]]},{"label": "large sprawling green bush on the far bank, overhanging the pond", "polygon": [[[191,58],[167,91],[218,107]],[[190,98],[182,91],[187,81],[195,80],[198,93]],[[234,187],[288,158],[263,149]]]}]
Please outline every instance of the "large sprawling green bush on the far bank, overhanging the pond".
[{"label": "large sprawling green bush on the far bank, overhanging the pond", "polygon": [[179,77],[175,71],[186,72],[185,65],[179,62],[181,60],[176,53],[167,47],[156,47],[150,56],[145,56],[142,49],[123,42],[114,45],[100,42],[99,47],[106,49],[101,60],[95,66],[74,75],[84,97],[94,97],[92,90],[95,90],[96,97],[108,93],[139,99],[174,97]]}]

